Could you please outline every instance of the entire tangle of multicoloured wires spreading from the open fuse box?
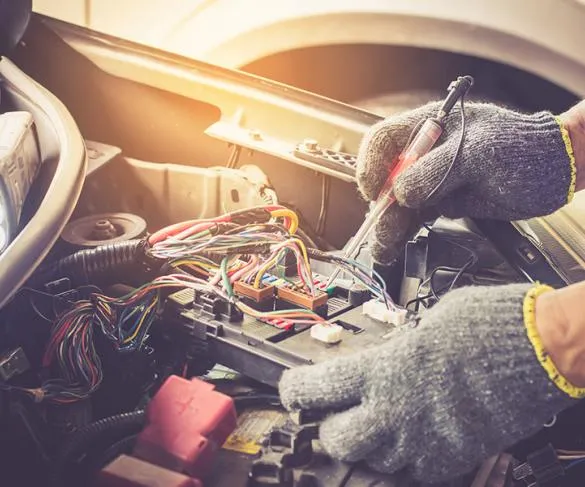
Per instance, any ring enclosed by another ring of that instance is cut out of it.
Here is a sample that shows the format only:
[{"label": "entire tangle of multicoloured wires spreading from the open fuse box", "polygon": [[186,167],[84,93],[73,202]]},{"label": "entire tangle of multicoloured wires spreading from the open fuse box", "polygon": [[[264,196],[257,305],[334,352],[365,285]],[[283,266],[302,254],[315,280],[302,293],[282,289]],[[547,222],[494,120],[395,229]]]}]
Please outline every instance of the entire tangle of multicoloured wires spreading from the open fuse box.
[{"label": "entire tangle of multicoloured wires spreading from the open fuse box", "polygon": [[[261,311],[241,300],[234,291],[236,282],[261,289],[264,281],[273,277],[271,271],[285,261],[294,265],[295,278],[281,279],[307,296],[326,291],[314,279],[310,263],[313,258],[341,266],[388,308],[396,308],[384,281],[374,271],[356,261],[308,248],[296,234],[298,221],[297,214],[290,209],[267,205],[217,218],[181,222],[150,235],[141,246],[133,243],[136,253],[158,264],[158,277],[121,297],[110,297],[93,289],[87,298],[66,303],[69,306],[57,315],[42,359],[49,378],[36,388],[5,388],[20,389],[36,401],[56,403],[91,396],[103,381],[98,338],[105,337],[106,343],[118,353],[141,349],[159,314],[164,291],[193,289],[211,293],[243,314],[273,326],[278,326],[274,323],[279,320],[294,325],[329,326],[324,317],[311,309]],[[101,255],[100,251],[94,253]],[[134,257],[125,260],[133,261]]]}]

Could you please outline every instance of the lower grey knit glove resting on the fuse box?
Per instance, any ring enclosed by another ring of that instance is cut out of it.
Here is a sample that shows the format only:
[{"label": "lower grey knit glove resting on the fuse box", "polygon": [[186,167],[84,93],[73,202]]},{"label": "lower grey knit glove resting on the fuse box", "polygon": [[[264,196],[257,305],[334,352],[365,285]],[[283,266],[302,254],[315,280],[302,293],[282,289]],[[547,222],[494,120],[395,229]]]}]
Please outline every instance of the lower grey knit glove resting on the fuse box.
[{"label": "lower grey knit glove resting on the fuse box", "polygon": [[282,403],[336,411],[320,428],[333,457],[425,482],[469,472],[577,402],[528,339],[530,287],[455,290],[375,350],[284,372]]}]

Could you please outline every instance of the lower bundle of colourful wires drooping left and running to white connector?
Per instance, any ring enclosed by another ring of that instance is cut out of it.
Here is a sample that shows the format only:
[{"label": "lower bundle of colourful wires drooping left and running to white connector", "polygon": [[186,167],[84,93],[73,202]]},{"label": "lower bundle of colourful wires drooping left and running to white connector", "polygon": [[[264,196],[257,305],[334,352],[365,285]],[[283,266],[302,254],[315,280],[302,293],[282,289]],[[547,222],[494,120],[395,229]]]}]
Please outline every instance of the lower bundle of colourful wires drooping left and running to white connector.
[{"label": "lower bundle of colourful wires drooping left and running to white connector", "polygon": [[[225,266],[224,271],[225,271]],[[295,323],[314,324],[324,321],[307,309],[260,312],[229,296],[223,289],[189,274],[169,274],[132,291],[121,298],[94,293],[90,300],[75,303],[53,326],[43,357],[43,366],[56,366],[58,377],[39,389],[26,389],[39,399],[71,402],[89,397],[100,386],[102,367],[95,348],[95,333],[100,330],[119,352],[139,349],[156,318],[162,288],[194,289],[213,292],[235,303],[245,314],[258,319],[274,318]]]}]

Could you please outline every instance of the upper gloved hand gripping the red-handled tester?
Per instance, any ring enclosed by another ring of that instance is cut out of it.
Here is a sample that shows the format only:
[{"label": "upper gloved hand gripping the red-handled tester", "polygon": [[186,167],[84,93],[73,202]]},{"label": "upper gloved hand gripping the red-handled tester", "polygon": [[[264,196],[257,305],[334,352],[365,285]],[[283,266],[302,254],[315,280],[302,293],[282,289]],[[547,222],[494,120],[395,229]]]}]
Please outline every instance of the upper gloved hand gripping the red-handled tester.
[{"label": "upper gloved hand gripping the red-handled tester", "polygon": [[[357,180],[367,200],[377,198],[389,167],[421,120],[436,115],[439,103],[387,118],[364,137]],[[374,259],[388,264],[418,223],[420,211],[433,208],[452,218],[471,216],[519,220],[552,213],[575,189],[575,163],[566,130],[549,112],[520,114],[490,104],[465,107],[467,128],[461,152],[447,173],[461,134],[459,107],[445,121],[437,145],[396,180],[393,205],[380,219],[372,242]],[[413,223],[414,222],[414,223]]]}]

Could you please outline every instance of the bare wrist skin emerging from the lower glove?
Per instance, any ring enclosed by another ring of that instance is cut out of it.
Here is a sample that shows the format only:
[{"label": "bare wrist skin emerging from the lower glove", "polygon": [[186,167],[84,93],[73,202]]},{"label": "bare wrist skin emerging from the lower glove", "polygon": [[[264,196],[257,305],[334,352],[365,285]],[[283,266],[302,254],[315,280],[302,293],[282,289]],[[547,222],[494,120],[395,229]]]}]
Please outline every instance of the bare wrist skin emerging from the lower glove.
[{"label": "bare wrist skin emerging from the lower glove", "polygon": [[559,372],[574,386],[585,387],[585,282],[540,295],[536,328]]}]

